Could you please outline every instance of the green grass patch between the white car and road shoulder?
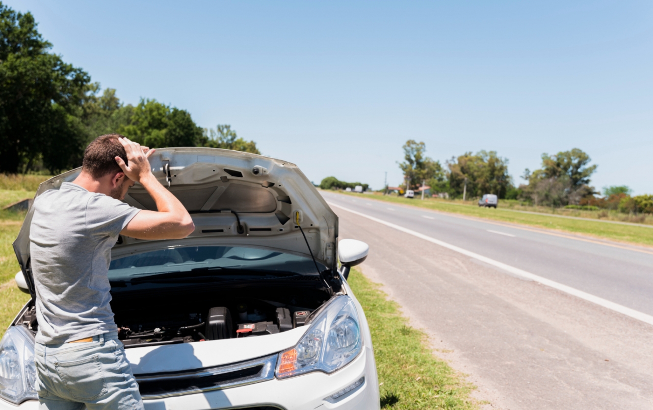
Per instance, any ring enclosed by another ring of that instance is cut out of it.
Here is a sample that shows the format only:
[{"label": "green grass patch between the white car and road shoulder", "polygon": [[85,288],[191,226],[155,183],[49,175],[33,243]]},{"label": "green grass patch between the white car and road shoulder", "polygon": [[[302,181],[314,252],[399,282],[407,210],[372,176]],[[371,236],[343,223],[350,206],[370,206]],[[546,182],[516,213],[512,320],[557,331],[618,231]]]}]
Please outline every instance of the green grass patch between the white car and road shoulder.
[{"label": "green grass patch between the white car and road shoulder", "polygon": [[464,381],[428,347],[426,334],[409,327],[396,302],[360,272],[352,270],[349,286],[365,310],[376,359],[381,408],[384,409],[477,409]]}]

